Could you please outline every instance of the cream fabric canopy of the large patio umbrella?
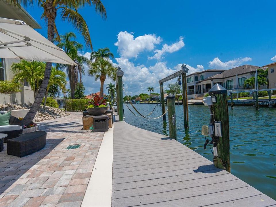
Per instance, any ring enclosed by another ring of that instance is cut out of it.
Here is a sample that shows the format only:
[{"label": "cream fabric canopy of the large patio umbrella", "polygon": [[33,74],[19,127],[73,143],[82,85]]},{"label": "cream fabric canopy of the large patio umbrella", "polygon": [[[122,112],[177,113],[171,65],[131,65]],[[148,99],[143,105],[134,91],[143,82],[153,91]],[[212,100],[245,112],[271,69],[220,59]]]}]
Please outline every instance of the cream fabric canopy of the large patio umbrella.
[{"label": "cream fabric canopy of the large patio umbrella", "polygon": [[0,18],[0,57],[76,65],[70,57],[23,21]]}]

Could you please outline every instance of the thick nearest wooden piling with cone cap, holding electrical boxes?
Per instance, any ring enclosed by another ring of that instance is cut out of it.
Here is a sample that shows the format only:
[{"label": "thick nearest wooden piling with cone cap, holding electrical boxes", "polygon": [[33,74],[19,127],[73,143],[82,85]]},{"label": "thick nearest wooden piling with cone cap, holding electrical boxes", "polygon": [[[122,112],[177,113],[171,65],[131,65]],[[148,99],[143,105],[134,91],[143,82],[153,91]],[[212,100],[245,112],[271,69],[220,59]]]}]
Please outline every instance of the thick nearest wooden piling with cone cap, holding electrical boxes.
[{"label": "thick nearest wooden piling with cone cap, holding electrical boxes", "polygon": [[[230,173],[230,139],[229,139],[229,114],[227,102],[227,90],[216,84],[209,95],[216,97],[216,103],[211,107],[212,124],[214,121],[221,122],[221,137],[214,136],[214,147],[217,147],[218,156],[214,156],[214,165],[225,169]],[[216,130],[214,130],[216,131]]]}]

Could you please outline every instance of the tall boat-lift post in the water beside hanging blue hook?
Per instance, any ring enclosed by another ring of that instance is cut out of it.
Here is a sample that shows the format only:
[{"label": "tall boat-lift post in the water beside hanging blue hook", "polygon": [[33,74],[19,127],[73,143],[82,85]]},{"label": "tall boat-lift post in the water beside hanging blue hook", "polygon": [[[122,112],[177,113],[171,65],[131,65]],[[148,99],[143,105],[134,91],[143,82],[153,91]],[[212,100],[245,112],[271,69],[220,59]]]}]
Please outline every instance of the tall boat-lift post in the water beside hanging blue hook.
[{"label": "tall boat-lift post in the water beside hanging blue hook", "polygon": [[182,73],[182,104],[183,104],[183,113],[184,113],[184,128],[189,128],[189,116],[188,116],[188,98],[187,98],[187,73],[189,68],[182,64],[181,69]]}]

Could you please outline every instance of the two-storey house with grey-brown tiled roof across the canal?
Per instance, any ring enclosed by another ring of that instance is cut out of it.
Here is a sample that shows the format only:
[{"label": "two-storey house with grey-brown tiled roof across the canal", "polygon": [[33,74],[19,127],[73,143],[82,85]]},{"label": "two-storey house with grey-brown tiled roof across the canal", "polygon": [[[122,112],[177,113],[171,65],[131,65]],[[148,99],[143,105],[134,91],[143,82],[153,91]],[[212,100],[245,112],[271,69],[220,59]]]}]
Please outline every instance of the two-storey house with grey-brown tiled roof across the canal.
[{"label": "two-storey house with grey-brown tiled roof across the canal", "polygon": [[[203,97],[216,84],[229,90],[250,90],[244,81],[254,77],[259,66],[243,65],[229,70],[204,70],[187,75],[188,98]],[[261,67],[262,68],[262,67]],[[264,68],[262,68],[264,69]],[[264,89],[261,86],[260,89]]]}]

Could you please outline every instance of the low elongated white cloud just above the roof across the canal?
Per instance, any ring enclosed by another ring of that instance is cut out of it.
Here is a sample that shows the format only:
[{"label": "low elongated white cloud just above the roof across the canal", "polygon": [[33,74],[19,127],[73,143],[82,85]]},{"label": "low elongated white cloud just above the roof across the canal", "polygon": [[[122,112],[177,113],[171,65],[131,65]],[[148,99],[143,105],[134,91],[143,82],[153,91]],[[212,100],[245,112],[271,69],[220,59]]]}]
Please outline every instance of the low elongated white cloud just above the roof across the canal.
[{"label": "low elongated white cloud just above the roof across the canal", "polygon": [[215,57],[214,60],[208,63],[208,65],[210,68],[228,70],[228,69],[240,66],[244,62],[248,62],[251,60],[252,60],[251,57],[244,57],[244,58],[236,58],[233,60],[222,62],[218,57]]}]

